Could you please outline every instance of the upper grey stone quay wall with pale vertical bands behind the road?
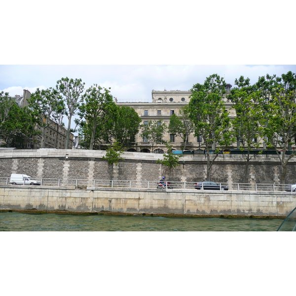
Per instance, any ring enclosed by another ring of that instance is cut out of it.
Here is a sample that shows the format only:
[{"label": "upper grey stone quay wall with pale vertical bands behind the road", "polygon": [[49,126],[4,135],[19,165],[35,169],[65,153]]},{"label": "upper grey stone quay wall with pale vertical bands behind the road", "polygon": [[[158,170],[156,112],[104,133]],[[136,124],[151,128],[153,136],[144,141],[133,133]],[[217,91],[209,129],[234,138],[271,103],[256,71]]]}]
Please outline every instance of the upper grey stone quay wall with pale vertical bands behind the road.
[{"label": "upper grey stone quay wall with pale vertical bands behind the road", "polygon": [[[81,149],[0,150],[0,177],[27,174],[32,178],[158,181],[161,176],[175,182],[206,179],[206,155],[185,154],[180,166],[167,169],[156,163],[162,154],[124,152],[113,169],[102,159],[106,151]],[[213,156],[214,157],[214,156]],[[184,164],[182,162],[185,161]],[[219,154],[211,180],[221,183],[244,183],[243,155]],[[250,162],[248,183],[278,184],[280,162],[277,155],[256,155]],[[296,157],[288,165],[286,183],[296,183]],[[113,172],[113,177],[112,177]]]}]

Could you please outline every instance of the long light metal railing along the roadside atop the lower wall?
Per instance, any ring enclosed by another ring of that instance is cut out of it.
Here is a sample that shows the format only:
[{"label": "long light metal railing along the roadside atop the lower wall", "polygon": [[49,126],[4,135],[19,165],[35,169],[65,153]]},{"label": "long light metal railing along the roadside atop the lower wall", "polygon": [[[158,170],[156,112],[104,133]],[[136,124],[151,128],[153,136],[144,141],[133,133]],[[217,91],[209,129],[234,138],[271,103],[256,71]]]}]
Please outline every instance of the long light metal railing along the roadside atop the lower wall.
[{"label": "long light metal railing along the roadside atop the lower wall", "polygon": [[[88,187],[111,187],[111,188],[156,188],[159,181],[137,181],[137,180],[89,180],[89,179],[57,179],[57,178],[32,178],[40,181],[44,186],[88,186]],[[0,185],[9,185],[10,178],[0,177]],[[224,187],[226,186],[226,187]],[[164,189],[211,189],[206,185],[197,186],[196,182],[168,182]],[[160,188],[160,187],[158,187]],[[250,184],[250,183],[218,183],[212,190],[236,190],[236,191],[290,191],[296,192],[294,186],[287,184]]]}]

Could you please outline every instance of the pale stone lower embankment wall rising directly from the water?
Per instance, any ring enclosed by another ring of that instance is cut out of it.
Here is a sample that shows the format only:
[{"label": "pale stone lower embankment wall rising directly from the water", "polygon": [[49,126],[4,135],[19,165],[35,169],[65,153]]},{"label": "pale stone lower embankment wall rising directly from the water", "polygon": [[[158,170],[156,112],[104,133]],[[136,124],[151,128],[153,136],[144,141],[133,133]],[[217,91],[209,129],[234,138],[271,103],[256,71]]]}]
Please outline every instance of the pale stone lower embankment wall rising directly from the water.
[{"label": "pale stone lower embankment wall rising directly from the water", "polygon": [[0,211],[286,217],[293,192],[1,185]]}]

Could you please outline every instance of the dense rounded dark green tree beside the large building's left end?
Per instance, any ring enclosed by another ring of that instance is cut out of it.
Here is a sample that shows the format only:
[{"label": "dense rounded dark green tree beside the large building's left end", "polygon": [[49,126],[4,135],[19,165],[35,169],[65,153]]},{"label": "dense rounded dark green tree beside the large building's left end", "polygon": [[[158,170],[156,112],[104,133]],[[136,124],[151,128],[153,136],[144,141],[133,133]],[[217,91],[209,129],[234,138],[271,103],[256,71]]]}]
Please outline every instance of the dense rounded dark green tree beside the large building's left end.
[{"label": "dense rounded dark green tree beside the large building's left end", "polygon": [[141,118],[131,107],[118,108],[118,116],[114,118],[111,134],[122,147],[131,147],[136,144],[136,134],[139,132]]}]

